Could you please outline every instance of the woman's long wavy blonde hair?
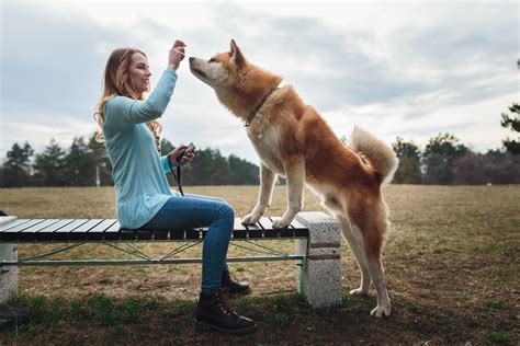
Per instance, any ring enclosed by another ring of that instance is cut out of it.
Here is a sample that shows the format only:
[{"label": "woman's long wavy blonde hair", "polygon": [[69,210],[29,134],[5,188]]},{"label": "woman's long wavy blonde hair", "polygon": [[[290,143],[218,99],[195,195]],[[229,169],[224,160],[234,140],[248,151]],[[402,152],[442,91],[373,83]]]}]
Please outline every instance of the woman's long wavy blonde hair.
[{"label": "woman's long wavy blonde hair", "polygon": [[[94,119],[100,126],[95,140],[98,142],[104,142],[102,132],[103,128],[103,107],[114,96],[126,96],[134,100],[145,100],[145,93],[138,93],[135,90],[134,82],[129,77],[128,70],[132,62],[132,56],[135,53],[139,53],[146,57],[146,54],[135,48],[118,48],[112,51],[106,61],[106,67],[103,73],[103,91],[101,93],[101,100],[98,104],[98,109],[94,113]],[[154,134],[156,140],[157,150],[160,151],[160,132],[162,125],[159,120],[154,119],[146,123],[150,131]]]}]

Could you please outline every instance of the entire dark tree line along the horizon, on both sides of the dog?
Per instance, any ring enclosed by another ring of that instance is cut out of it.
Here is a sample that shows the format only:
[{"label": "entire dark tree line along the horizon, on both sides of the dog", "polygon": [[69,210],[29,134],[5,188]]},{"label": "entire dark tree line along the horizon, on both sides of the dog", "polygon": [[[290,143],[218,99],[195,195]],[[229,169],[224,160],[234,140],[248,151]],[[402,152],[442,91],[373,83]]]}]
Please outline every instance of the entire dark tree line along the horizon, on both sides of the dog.
[{"label": "entire dark tree line along the horizon, on both sides of the dog", "polygon": [[[520,131],[520,105],[502,113],[500,125]],[[397,137],[392,143],[399,159],[396,184],[519,184],[520,140],[506,138],[504,150],[477,153],[453,134],[431,137],[421,150],[412,140]],[[161,154],[173,150],[161,140]],[[113,185],[112,165],[95,134],[76,137],[65,150],[54,139],[43,152],[35,153],[29,142],[14,143],[0,166],[1,187]],[[176,185],[168,174],[170,185]],[[193,162],[184,168],[184,185],[258,185],[259,168],[236,155],[223,157],[218,149],[197,149]],[[284,180],[281,180],[284,183]]]}]

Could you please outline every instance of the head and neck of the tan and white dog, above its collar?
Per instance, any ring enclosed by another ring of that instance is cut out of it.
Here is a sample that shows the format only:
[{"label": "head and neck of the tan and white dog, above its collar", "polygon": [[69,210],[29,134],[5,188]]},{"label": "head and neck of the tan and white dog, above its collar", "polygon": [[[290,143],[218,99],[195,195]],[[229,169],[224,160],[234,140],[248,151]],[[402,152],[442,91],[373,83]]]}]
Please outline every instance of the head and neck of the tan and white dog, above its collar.
[{"label": "head and neck of the tan and white dog, above its collar", "polygon": [[227,108],[244,117],[282,78],[269,73],[246,60],[236,42],[229,51],[217,53],[210,59],[190,57],[190,70],[212,86]]}]

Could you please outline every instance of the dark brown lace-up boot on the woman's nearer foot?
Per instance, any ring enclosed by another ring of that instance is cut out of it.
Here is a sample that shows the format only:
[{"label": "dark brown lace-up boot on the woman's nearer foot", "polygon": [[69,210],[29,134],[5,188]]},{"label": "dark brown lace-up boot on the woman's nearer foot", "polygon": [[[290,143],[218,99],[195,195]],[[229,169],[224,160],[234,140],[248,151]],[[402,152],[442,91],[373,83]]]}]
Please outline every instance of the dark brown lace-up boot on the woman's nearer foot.
[{"label": "dark brown lace-up boot on the woman's nearer foot", "polygon": [[227,334],[248,334],[256,328],[252,320],[239,315],[229,308],[222,290],[211,295],[201,292],[194,322],[200,330]]}]

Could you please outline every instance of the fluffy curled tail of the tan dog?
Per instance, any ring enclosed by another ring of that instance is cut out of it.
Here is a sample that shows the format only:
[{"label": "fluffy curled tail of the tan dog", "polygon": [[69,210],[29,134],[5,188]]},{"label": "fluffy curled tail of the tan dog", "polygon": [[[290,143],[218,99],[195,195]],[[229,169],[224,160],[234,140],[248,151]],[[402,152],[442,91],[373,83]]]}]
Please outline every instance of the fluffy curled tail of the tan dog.
[{"label": "fluffy curled tail of the tan dog", "polygon": [[365,155],[375,172],[381,174],[382,185],[388,184],[399,163],[394,150],[360,127],[354,127],[350,141],[352,149]]}]

